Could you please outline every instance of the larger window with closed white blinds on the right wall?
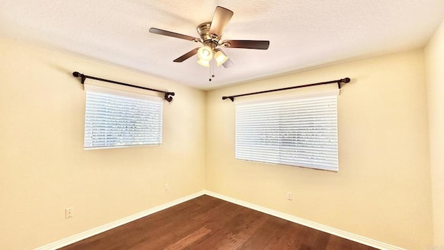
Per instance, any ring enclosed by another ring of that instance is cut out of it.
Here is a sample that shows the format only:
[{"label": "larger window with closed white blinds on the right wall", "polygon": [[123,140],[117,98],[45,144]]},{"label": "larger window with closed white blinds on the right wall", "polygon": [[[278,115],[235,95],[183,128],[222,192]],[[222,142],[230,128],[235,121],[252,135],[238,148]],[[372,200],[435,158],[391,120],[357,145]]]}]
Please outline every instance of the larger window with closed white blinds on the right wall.
[{"label": "larger window with closed white blinds on the right wall", "polygon": [[338,94],[238,103],[236,158],[337,172]]}]

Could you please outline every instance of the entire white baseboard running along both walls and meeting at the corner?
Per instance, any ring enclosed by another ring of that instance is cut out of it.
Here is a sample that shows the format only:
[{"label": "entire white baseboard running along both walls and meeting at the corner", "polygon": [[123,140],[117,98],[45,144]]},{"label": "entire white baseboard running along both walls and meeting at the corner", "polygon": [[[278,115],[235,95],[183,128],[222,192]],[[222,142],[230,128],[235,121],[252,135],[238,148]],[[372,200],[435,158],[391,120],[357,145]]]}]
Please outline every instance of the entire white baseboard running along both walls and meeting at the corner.
[{"label": "entire white baseboard running along both walls and meeting at the corner", "polygon": [[164,203],[164,204],[162,204],[160,206],[156,206],[154,208],[150,208],[148,210],[144,210],[144,211],[142,211],[140,213],[137,213],[135,215],[130,215],[128,217],[125,217],[125,218],[122,218],[122,219],[118,219],[115,222],[110,222],[110,223],[105,224],[103,226],[98,226],[96,228],[89,229],[88,231],[85,231],[85,232],[82,232],[82,233],[78,233],[76,235],[72,235],[72,236],[70,236],[68,238],[65,238],[65,239],[62,239],[62,240],[58,240],[58,241],[53,242],[51,244],[46,244],[43,247],[39,247],[39,248],[37,248],[35,250],[54,250],[54,249],[59,249],[60,247],[65,247],[65,246],[67,246],[69,244],[72,244],[74,242],[78,242],[80,240],[84,240],[86,238],[89,238],[89,237],[91,237],[93,235],[96,235],[96,234],[99,234],[99,233],[103,233],[103,232],[108,231],[108,230],[110,230],[112,228],[116,228],[117,226],[121,226],[121,225],[126,224],[128,222],[133,222],[134,220],[140,219],[142,217],[145,217],[146,215],[151,215],[153,213],[157,213],[157,212],[159,212],[161,210],[170,208],[172,206],[176,206],[179,203],[182,203],[182,202],[185,202],[185,201],[189,201],[189,200],[194,199],[196,197],[200,197],[203,194],[207,194],[207,195],[210,195],[212,197],[216,197],[218,199],[223,199],[224,201],[228,201],[228,202],[240,205],[240,206],[244,206],[246,208],[251,208],[253,210],[257,210],[259,212],[266,213],[268,215],[273,215],[275,217],[286,219],[286,220],[288,220],[290,222],[295,222],[295,223],[298,223],[298,224],[301,224],[301,225],[304,225],[304,226],[308,226],[310,228],[314,228],[314,229],[317,229],[319,231],[323,231],[325,233],[330,233],[332,235],[336,235],[336,236],[339,236],[341,238],[352,240],[354,242],[359,242],[361,244],[366,244],[366,245],[368,245],[370,247],[375,247],[377,249],[382,249],[382,250],[405,250],[405,249],[402,249],[400,247],[395,247],[395,246],[393,246],[391,244],[386,244],[384,242],[379,242],[377,240],[372,240],[372,239],[369,239],[369,238],[365,238],[365,237],[360,236],[360,235],[355,235],[354,233],[348,233],[346,231],[342,231],[342,230],[339,230],[339,229],[336,229],[336,228],[332,228],[330,226],[325,226],[325,225],[322,225],[322,224],[318,224],[316,222],[311,222],[311,221],[309,221],[307,219],[302,219],[300,217],[296,217],[296,216],[293,216],[293,215],[288,215],[286,213],[281,213],[279,211],[276,211],[276,210],[273,210],[273,209],[270,209],[270,208],[264,208],[262,206],[257,206],[257,205],[255,205],[253,203],[248,203],[246,201],[241,201],[241,200],[238,200],[238,199],[227,197],[225,195],[218,194],[218,193],[215,193],[215,192],[212,192],[212,191],[208,191],[208,190],[202,190],[200,192],[196,192],[194,194],[190,194],[190,195],[188,195],[186,197],[182,197],[180,199],[176,199],[174,201],[170,201],[168,203]]}]

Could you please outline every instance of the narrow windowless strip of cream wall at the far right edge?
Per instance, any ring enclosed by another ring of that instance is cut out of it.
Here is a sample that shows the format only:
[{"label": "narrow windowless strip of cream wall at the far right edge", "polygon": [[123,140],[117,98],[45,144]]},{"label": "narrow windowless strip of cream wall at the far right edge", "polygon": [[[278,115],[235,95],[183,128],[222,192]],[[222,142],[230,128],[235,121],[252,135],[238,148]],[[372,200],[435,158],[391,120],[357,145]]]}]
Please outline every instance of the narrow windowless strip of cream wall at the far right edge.
[{"label": "narrow windowless strip of cream wall at the far right edge", "polygon": [[444,22],[425,48],[434,244],[444,249]]}]

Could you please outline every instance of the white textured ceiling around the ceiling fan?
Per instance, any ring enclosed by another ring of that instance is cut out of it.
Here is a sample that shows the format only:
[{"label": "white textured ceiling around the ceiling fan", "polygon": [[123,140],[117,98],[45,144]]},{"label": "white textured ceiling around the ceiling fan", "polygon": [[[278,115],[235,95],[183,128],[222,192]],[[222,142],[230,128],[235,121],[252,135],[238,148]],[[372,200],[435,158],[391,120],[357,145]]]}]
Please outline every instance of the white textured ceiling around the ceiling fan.
[{"label": "white textured ceiling around the ceiling fan", "polygon": [[[196,26],[210,22],[216,6],[234,12],[222,40],[270,40],[270,47],[224,49],[234,66],[216,67],[209,82],[210,69],[198,65],[196,56],[173,63],[196,43],[148,29],[198,37]],[[427,43],[443,17],[444,0],[0,0],[0,36],[208,90],[417,49]]]}]

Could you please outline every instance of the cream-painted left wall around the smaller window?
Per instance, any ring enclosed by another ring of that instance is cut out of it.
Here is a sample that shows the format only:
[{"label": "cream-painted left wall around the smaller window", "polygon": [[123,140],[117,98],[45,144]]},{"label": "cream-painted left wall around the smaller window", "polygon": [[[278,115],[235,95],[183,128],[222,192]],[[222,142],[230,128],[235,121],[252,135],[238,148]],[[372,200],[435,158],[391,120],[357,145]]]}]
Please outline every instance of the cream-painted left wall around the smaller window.
[{"label": "cream-painted left wall around the smaller window", "polygon": [[[40,247],[205,188],[205,92],[10,40],[0,58],[0,249]],[[176,92],[162,146],[84,151],[73,71]]]}]

